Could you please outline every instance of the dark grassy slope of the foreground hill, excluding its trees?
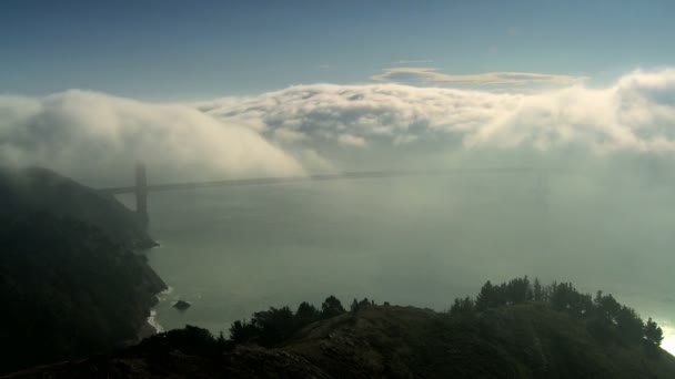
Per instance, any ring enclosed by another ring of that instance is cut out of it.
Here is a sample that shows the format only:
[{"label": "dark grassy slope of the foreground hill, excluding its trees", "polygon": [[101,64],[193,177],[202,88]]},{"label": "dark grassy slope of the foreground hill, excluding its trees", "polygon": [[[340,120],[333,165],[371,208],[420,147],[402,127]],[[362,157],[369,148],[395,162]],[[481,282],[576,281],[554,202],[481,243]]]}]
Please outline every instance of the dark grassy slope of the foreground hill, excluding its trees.
[{"label": "dark grassy slope of the foreground hill, excluding its trees", "polygon": [[675,358],[644,344],[598,339],[547,304],[453,316],[361,306],[264,348],[231,345],[197,327],[109,357],[12,378],[675,378]]}]

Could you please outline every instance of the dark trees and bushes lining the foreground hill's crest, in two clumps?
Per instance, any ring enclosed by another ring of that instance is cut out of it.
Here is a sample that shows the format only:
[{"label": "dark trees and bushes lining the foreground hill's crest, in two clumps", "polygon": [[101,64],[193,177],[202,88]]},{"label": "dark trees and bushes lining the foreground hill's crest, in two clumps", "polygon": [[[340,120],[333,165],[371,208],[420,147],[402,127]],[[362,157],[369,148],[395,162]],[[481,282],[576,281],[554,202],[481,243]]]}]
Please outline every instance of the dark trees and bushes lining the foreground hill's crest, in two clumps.
[{"label": "dark trees and bushes lining the foreground hill's crest, in two clumps", "polygon": [[[476,317],[481,313],[516,304],[541,304],[557,311],[566,313],[586,321],[590,331],[598,338],[619,336],[623,341],[643,341],[648,346],[659,346],[663,331],[649,318],[646,322],[637,313],[619,304],[612,295],[597,291],[595,297],[582,294],[571,283],[542,285],[538,279],[531,281],[526,276],[500,285],[485,283],[475,298],[456,298],[447,311],[451,318]],[[389,306],[383,303],[382,306]],[[374,300],[354,299],[350,306],[352,314],[361,309],[379,307]],[[171,351],[177,346],[198,354],[220,354],[236,345],[255,344],[274,347],[288,341],[305,326],[346,314],[335,296],[329,296],[321,307],[303,301],[295,310],[288,306],[270,307],[254,313],[250,319],[238,320],[230,327],[230,336],[221,332],[213,337],[208,330],[188,326],[185,329],[170,330],[151,337],[141,348]],[[184,351],[185,352],[185,351]]]}]

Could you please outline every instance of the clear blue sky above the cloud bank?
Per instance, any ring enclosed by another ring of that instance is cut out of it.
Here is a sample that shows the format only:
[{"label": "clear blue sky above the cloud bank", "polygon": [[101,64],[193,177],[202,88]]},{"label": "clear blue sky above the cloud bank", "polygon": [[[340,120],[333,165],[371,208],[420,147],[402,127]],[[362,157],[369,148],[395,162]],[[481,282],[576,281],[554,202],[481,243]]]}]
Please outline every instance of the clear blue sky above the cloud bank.
[{"label": "clear blue sky above the cloud bank", "polygon": [[673,14],[673,1],[6,0],[0,92],[195,100],[396,66],[604,83],[672,65]]}]

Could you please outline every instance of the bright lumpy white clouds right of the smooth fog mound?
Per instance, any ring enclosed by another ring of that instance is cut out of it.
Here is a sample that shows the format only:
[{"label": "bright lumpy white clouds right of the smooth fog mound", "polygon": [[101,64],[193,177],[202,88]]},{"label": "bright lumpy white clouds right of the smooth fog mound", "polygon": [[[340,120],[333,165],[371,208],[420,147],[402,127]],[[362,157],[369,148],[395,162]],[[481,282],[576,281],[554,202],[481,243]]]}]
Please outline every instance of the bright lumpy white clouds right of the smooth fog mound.
[{"label": "bright lumpy white clouds right of the smooth fog mound", "polygon": [[[540,92],[494,93],[400,84],[291,86],[254,98],[216,100],[202,109],[225,123],[278,130],[312,147],[395,146],[433,142],[446,150],[675,150],[675,70],[635,71],[614,84],[582,83]],[[271,132],[273,131],[273,132]],[[359,140],[355,140],[359,139]],[[283,143],[284,141],[281,141]]]}]

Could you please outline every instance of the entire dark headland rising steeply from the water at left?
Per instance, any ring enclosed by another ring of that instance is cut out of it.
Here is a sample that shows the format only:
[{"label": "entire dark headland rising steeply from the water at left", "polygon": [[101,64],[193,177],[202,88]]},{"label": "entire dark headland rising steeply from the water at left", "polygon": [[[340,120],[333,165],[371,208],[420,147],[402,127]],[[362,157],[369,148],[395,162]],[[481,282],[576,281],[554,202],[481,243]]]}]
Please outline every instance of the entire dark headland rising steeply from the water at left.
[{"label": "entire dark headland rising steeply from the water at left", "polygon": [[137,341],[164,283],[113,198],[42,168],[0,174],[0,373]]}]

